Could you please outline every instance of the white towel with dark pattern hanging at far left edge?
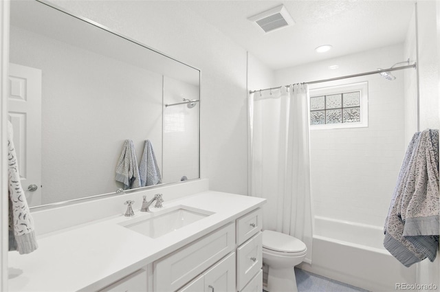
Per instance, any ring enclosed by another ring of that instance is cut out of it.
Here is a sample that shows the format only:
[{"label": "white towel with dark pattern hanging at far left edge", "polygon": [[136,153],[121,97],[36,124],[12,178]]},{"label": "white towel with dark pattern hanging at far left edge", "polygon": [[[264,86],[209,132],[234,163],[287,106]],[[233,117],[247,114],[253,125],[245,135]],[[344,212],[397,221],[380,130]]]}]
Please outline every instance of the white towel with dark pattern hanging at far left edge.
[{"label": "white towel with dark pattern hanging at far left edge", "polygon": [[8,121],[9,250],[29,254],[38,248],[34,221],[21,187],[12,124]]}]

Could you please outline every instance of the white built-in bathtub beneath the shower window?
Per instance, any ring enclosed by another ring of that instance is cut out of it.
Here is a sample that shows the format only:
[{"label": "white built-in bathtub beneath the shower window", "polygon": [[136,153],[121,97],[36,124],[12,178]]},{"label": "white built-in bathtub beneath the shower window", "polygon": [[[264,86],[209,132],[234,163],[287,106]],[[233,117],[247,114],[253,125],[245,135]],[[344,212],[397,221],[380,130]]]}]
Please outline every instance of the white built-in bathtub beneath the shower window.
[{"label": "white built-in bathtub beneath the shower window", "polygon": [[414,284],[416,265],[401,265],[383,247],[383,239],[382,227],[315,216],[312,262],[298,267],[369,291]]}]

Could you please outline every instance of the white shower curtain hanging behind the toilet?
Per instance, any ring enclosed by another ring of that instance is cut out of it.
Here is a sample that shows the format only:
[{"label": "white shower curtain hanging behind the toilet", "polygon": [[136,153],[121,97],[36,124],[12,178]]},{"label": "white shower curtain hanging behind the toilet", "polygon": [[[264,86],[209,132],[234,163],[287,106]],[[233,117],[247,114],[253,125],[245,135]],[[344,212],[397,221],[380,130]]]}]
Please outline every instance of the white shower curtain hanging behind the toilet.
[{"label": "white shower curtain hanging behind the toilet", "polygon": [[308,100],[303,84],[250,94],[250,186],[267,199],[263,229],[302,240],[311,264]]}]

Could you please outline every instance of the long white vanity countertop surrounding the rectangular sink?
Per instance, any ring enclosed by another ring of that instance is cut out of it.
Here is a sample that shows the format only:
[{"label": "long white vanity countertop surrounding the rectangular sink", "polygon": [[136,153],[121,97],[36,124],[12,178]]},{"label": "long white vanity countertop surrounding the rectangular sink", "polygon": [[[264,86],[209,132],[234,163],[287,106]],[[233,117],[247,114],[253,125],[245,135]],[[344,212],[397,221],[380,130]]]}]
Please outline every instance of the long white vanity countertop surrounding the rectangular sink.
[{"label": "long white vanity countertop surrounding the rectangular sink", "polygon": [[[120,214],[39,236],[39,249],[31,254],[9,252],[9,291],[96,291],[264,203],[252,196],[206,191],[165,201],[161,209],[150,207],[152,212],[134,210],[133,217]],[[120,225],[177,205],[214,214],[158,238]]]}]

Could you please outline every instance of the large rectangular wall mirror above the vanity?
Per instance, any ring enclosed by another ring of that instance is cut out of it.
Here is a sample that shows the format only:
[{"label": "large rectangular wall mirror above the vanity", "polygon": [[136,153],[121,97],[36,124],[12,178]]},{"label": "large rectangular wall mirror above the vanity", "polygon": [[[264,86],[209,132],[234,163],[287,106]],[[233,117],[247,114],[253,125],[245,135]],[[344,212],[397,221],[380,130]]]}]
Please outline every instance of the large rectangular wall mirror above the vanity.
[{"label": "large rectangular wall mirror above the vanity", "polygon": [[126,139],[138,165],[151,142],[162,183],[199,178],[198,69],[52,4],[12,1],[10,17],[9,120],[31,207],[124,188]]}]

